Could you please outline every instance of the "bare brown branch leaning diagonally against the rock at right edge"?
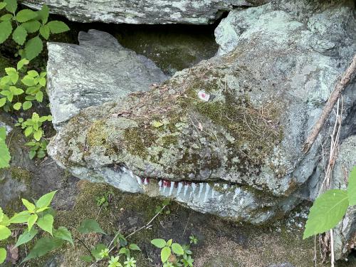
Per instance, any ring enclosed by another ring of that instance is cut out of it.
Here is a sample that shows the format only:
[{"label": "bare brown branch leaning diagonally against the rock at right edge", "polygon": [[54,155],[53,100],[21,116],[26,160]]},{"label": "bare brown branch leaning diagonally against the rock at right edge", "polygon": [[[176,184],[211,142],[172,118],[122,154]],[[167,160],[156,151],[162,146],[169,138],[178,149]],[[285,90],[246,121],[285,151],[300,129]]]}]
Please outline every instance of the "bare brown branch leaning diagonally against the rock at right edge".
[{"label": "bare brown branch leaning diagonally against the rock at right edge", "polygon": [[350,64],[350,66],[347,68],[347,70],[345,70],[345,73],[343,73],[341,80],[335,86],[333,93],[331,93],[330,98],[328,99],[328,102],[326,103],[323,109],[323,112],[321,113],[318,121],[315,122],[313,130],[310,132],[310,135],[305,141],[303,145],[303,151],[305,153],[310,150],[310,147],[312,147],[313,143],[315,142],[316,138],[319,135],[320,130],[323,128],[325,121],[328,119],[330,112],[333,110],[333,107],[337,99],[340,98],[342,90],[344,90],[347,84],[350,83],[352,75],[355,74],[355,72],[356,72],[356,54],[352,58],[352,63]]}]

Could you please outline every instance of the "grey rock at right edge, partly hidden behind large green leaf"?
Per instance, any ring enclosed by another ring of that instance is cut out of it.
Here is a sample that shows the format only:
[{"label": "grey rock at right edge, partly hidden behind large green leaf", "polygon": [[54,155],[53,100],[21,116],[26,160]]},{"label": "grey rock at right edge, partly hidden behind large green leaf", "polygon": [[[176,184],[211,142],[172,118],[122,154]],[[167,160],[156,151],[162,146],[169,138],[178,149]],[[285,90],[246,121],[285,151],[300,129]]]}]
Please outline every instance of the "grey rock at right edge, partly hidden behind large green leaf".
[{"label": "grey rock at right edge, partly hidden behind large green leaf", "polygon": [[[351,170],[356,166],[356,135],[348,137],[340,145],[340,153],[337,156],[333,170],[333,188],[346,189],[347,178]],[[356,207],[347,209],[344,219],[334,229],[335,258],[345,258],[351,248],[356,245]]]}]

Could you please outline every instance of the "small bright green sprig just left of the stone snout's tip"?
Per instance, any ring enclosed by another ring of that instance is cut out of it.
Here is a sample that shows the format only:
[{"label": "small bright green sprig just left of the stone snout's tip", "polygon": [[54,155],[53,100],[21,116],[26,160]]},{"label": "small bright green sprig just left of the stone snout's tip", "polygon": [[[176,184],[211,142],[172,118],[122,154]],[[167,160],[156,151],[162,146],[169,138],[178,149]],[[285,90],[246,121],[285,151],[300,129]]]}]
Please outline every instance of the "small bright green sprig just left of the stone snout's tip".
[{"label": "small bright green sprig just left of the stone snout's tip", "polygon": [[23,118],[19,118],[16,126],[21,126],[23,129],[23,133],[26,137],[33,137],[37,142],[41,140],[43,137],[43,122],[51,122],[52,116],[39,116],[36,112],[33,112],[31,119],[23,120]]}]

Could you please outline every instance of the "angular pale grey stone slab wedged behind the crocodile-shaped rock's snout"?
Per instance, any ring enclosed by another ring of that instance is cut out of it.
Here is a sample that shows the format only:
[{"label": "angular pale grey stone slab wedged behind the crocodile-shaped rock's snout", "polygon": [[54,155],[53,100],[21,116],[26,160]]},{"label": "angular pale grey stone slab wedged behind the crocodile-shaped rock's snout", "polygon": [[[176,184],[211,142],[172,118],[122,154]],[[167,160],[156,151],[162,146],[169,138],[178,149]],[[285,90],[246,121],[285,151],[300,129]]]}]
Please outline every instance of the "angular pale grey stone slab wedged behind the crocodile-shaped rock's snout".
[{"label": "angular pale grey stone slab wedged behind the crocodile-shaped rock's snout", "polygon": [[58,128],[83,108],[148,90],[167,76],[145,56],[120,46],[109,33],[79,33],[79,46],[48,43],[48,95]]}]

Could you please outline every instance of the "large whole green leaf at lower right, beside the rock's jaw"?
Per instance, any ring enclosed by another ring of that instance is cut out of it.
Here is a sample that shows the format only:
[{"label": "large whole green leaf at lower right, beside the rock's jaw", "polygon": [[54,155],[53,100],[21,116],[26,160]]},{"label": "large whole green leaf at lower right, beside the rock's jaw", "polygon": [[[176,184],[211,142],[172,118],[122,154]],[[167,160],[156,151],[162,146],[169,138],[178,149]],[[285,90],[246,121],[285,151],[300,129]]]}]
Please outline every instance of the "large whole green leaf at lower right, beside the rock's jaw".
[{"label": "large whole green leaf at lower right, beside the rock's jaw", "polygon": [[333,229],[345,215],[348,206],[345,190],[332,189],[321,194],[310,208],[303,239]]}]

